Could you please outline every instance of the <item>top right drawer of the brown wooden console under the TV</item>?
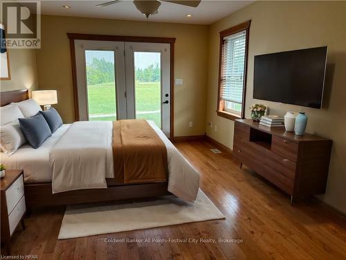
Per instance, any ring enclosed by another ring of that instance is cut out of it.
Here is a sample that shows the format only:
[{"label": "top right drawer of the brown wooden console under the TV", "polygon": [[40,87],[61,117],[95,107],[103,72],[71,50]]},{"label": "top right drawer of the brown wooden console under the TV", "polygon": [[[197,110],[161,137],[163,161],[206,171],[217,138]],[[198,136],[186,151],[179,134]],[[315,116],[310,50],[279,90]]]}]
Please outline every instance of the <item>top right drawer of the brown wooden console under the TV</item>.
[{"label": "top right drawer of the brown wooden console under the TV", "polygon": [[297,162],[298,157],[298,144],[284,138],[275,137],[271,141],[271,150],[277,155]]}]

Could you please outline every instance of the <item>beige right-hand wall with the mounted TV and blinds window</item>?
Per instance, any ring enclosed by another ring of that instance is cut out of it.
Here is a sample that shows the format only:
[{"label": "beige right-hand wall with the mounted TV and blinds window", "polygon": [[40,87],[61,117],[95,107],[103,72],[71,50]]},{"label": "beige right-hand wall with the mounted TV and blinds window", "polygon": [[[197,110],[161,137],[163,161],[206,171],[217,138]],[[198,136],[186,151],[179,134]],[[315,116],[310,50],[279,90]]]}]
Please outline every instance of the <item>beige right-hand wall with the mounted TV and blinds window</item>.
[{"label": "beige right-hand wall with the mounted TV and blinds window", "polygon": [[[248,107],[263,103],[271,114],[304,111],[309,116],[307,132],[333,139],[325,202],[346,213],[346,2],[258,1],[210,26],[208,58],[208,100],[206,121],[217,125],[217,132],[206,127],[207,135],[232,148],[233,121],[215,113],[219,62],[219,31],[251,19],[246,89]],[[282,105],[253,99],[254,55],[328,45],[329,73],[327,106],[322,110]]]}]

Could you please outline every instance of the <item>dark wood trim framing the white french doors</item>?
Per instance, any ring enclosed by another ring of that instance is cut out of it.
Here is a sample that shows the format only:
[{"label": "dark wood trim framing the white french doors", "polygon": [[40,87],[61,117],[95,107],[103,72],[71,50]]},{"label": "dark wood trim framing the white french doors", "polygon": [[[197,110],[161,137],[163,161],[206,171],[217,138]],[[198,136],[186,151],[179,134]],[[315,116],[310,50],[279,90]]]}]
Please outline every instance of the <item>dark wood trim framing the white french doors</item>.
[{"label": "dark wood trim framing the white french doors", "polygon": [[95,35],[84,33],[67,33],[70,40],[71,63],[72,63],[72,83],[73,96],[75,103],[75,121],[79,120],[78,110],[78,87],[77,87],[77,69],[75,64],[75,40],[95,40],[95,41],[113,41],[113,42],[150,42],[170,44],[170,139],[174,137],[174,43],[176,38],[167,37],[140,37],[125,35]]}]

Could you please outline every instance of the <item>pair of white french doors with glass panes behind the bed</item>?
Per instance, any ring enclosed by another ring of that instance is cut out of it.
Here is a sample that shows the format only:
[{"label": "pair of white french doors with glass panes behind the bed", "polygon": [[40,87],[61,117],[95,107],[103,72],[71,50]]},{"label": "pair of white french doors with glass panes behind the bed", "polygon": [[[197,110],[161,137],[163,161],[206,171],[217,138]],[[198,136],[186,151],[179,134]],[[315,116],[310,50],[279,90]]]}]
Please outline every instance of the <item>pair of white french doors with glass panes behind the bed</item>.
[{"label": "pair of white french doors with glass panes behind the bed", "polygon": [[170,44],[75,40],[80,120],[152,120],[170,137]]}]

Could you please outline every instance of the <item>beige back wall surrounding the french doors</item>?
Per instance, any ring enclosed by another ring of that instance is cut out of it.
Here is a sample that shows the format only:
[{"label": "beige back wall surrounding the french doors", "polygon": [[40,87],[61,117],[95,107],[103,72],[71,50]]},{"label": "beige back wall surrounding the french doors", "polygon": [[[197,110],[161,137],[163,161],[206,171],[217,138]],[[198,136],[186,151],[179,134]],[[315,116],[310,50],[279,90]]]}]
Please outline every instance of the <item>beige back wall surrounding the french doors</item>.
[{"label": "beige back wall surrounding the french doors", "polygon": [[[204,135],[208,26],[42,16],[42,49],[37,51],[39,89],[57,89],[55,105],[65,122],[74,120],[71,55],[66,33],[176,37],[174,135]],[[193,121],[193,128],[188,122]]]}]

